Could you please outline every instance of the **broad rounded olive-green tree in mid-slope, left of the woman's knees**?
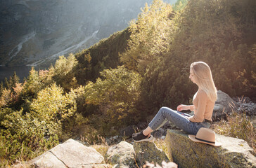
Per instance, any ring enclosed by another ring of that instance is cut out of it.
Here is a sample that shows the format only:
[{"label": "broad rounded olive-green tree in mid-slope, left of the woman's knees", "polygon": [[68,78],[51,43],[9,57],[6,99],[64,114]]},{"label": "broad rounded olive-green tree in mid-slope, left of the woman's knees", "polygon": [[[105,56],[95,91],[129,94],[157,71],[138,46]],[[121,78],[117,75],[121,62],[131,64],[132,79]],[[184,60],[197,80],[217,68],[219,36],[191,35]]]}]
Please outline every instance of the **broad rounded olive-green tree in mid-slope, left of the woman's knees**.
[{"label": "broad rounded olive-green tree in mid-slope, left of the woman's knees", "polygon": [[105,69],[96,83],[85,87],[87,104],[98,106],[99,116],[108,127],[126,125],[139,119],[135,106],[140,97],[141,76],[124,66]]}]

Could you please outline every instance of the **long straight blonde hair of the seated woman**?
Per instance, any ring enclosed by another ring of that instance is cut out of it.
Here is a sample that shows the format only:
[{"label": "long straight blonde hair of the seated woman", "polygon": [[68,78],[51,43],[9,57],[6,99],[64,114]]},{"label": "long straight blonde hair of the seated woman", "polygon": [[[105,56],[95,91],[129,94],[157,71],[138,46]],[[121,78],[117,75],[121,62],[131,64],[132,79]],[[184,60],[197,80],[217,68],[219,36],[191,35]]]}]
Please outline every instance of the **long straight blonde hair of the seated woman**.
[{"label": "long straight blonde hair of the seated woman", "polygon": [[217,89],[212,79],[210,67],[205,62],[193,62],[190,68],[194,73],[198,87],[206,92],[207,97],[212,102],[215,102],[217,100]]}]

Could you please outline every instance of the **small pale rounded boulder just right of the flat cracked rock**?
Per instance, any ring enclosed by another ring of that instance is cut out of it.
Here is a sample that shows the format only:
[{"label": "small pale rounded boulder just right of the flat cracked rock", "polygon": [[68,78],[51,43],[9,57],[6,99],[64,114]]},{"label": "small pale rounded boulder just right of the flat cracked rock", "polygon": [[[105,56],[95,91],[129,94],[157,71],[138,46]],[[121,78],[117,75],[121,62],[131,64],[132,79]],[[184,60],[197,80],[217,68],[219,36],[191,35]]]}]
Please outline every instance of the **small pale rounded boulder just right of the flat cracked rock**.
[{"label": "small pale rounded boulder just right of the flat cracked rock", "polygon": [[134,159],[134,148],[132,144],[121,141],[115,146],[111,146],[106,153],[107,162],[114,167],[136,167]]}]

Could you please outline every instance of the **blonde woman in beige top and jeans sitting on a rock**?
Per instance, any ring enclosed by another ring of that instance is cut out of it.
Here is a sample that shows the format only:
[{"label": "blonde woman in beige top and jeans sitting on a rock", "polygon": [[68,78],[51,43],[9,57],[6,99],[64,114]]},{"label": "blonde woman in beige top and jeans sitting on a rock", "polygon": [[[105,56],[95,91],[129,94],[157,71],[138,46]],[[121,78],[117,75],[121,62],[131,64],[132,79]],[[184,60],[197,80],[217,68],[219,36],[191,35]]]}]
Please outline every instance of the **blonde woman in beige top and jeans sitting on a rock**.
[{"label": "blonde woman in beige top and jeans sitting on a rock", "polygon": [[[210,67],[205,62],[193,62],[190,66],[189,78],[198,85],[198,91],[193,96],[193,105],[180,104],[177,106],[177,111],[162,107],[151,123],[148,124],[146,130],[133,134],[134,141],[151,141],[153,139],[151,132],[158,130],[167,121],[193,135],[196,135],[201,127],[210,127],[212,111],[217,99],[217,89],[212,80]],[[183,110],[194,111],[194,115],[181,113],[180,111]]]}]

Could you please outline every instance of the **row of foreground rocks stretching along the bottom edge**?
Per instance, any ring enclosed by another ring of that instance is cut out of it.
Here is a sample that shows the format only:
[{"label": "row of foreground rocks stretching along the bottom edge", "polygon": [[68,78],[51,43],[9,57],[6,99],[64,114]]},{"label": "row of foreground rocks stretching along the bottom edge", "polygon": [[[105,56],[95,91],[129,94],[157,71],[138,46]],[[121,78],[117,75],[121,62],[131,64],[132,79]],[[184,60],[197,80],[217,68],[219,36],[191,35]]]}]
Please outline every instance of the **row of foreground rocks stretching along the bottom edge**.
[{"label": "row of foreground rocks stretching along the bottom edge", "polygon": [[[215,147],[191,141],[188,134],[168,130],[165,138],[167,152],[154,142],[134,145],[121,141],[110,146],[103,156],[94,148],[69,139],[27,163],[33,167],[256,167],[252,148],[242,139],[216,134],[222,146]],[[168,162],[168,164],[167,164]]]}]

